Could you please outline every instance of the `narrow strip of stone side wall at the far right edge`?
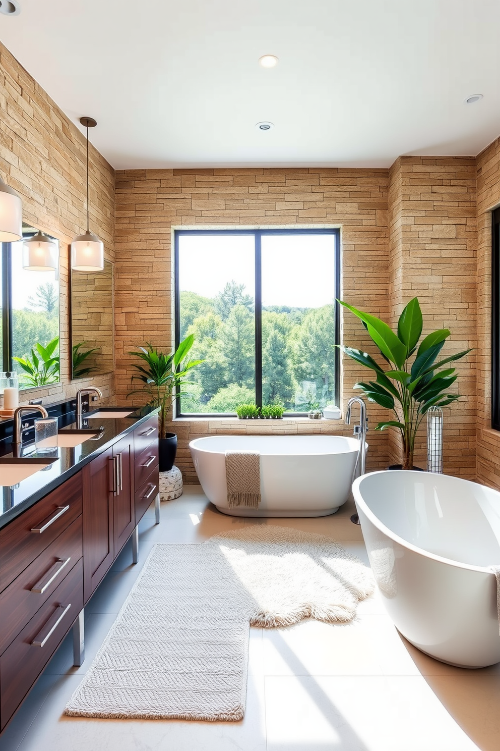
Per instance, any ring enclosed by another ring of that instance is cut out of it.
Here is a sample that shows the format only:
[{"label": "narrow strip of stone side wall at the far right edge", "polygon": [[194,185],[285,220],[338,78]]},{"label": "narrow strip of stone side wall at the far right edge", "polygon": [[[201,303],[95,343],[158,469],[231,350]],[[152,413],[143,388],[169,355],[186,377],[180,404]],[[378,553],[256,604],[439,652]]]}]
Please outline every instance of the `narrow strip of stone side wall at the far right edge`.
[{"label": "narrow strip of stone side wall at the far right edge", "polygon": [[500,490],[500,433],[491,428],[491,210],[500,205],[500,138],[478,164],[478,481]]}]

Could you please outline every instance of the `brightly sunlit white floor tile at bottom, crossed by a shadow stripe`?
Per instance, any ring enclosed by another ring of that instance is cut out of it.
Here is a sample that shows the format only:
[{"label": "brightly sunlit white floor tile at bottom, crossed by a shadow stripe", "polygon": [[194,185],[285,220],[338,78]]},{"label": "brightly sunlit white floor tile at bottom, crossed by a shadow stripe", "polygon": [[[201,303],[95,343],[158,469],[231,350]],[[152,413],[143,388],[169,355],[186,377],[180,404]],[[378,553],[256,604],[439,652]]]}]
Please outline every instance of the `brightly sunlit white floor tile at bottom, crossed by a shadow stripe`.
[{"label": "brightly sunlit white floor tile at bottom, crossed by a shadow stripe", "polygon": [[478,751],[421,677],[266,677],[268,751]]}]

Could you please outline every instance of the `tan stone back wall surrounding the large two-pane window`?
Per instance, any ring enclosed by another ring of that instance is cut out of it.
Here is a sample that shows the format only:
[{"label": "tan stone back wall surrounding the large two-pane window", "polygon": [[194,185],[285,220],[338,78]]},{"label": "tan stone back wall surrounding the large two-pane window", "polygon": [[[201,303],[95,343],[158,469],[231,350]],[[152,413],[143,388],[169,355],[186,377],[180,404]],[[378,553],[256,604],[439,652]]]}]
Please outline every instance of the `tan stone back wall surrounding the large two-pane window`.
[{"label": "tan stone back wall surrounding the large two-pane window", "polygon": [[[116,386],[130,390],[130,350],[145,341],[170,351],[173,342],[172,229],[340,226],[344,300],[388,318],[388,170],[200,169],[116,173]],[[312,270],[312,278],[318,270]],[[319,270],[320,273],[320,270]],[[350,313],[343,340],[369,348]],[[343,364],[343,406],[361,372]],[[364,374],[366,375],[366,373]],[[373,426],[385,410],[369,407]],[[356,413],[357,415],[357,413]],[[184,480],[196,482],[187,445],[214,433],[344,433],[343,424],[309,421],[175,421]],[[387,433],[369,433],[368,466],[385,466]]]}]

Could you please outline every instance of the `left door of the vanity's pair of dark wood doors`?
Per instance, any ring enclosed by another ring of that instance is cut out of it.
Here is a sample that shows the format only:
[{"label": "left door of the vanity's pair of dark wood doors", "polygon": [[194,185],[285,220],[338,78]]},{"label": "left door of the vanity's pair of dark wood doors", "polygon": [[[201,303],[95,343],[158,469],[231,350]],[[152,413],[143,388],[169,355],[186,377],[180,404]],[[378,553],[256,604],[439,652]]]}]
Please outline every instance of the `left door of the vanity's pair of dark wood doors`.
[{"label": "left door of the vanity's pair of dark wood doors", "polygon": [[82,469],[83,475],[83,593],[85,602],[115,557],[112,448]]}]

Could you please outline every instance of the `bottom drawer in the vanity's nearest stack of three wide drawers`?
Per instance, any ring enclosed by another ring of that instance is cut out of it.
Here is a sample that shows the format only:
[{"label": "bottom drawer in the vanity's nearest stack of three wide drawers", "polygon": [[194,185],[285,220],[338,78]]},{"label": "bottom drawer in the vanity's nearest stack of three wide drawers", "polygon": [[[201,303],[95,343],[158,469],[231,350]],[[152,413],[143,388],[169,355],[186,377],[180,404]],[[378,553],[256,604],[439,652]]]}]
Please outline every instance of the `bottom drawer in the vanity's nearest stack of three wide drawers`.
[{"label": "bottom drawer in the vanity's nearest stack of three wide drawers", "polygon": [[83,608],[82,559],[0,657],[1,727],[15,712]]}]

